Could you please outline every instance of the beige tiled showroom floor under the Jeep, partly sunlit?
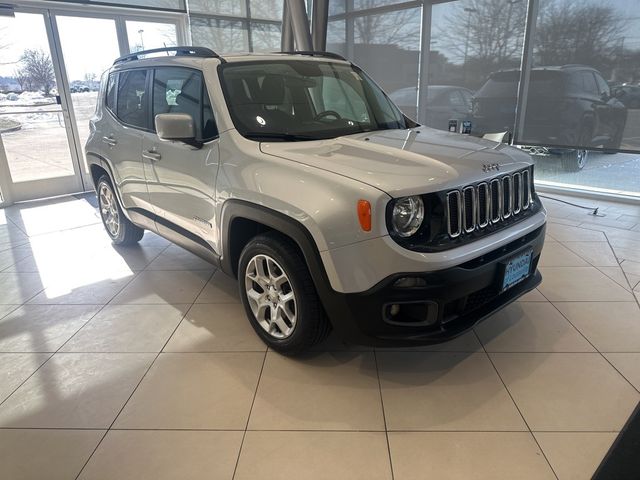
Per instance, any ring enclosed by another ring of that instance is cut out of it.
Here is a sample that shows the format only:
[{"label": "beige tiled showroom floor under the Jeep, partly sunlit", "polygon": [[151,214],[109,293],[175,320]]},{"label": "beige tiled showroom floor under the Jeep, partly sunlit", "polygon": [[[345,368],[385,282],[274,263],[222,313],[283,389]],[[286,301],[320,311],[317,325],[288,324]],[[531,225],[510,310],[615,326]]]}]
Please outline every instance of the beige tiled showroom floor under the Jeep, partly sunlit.
[{"label": "beige tiled showroom floor under the Jeep, partly sunlit", "polygon": [[589,478],[640,401],[640,207],[545,203],[544,282],[475,331],[299,359],[84,199],[0,210],[0,478]]}]

